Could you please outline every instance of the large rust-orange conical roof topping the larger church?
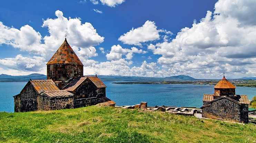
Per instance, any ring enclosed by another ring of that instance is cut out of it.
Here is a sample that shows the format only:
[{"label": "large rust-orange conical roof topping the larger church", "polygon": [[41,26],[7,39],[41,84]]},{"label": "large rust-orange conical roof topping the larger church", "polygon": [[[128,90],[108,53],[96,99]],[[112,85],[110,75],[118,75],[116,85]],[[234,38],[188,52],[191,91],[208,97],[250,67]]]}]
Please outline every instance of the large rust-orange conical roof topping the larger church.
[{"label": "large rust-orange conical roof topping the larger church", "polygon": [[77,57],[76,53],[68,44],[67,39],[62,43],[59,49],[55,52],[55,54],[48,61],[48,64],[56,64],[56,63],[65,63],[65,64],[78,64],[83,65],[82,62]]}]

